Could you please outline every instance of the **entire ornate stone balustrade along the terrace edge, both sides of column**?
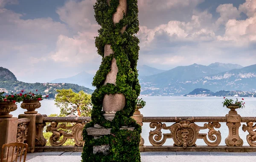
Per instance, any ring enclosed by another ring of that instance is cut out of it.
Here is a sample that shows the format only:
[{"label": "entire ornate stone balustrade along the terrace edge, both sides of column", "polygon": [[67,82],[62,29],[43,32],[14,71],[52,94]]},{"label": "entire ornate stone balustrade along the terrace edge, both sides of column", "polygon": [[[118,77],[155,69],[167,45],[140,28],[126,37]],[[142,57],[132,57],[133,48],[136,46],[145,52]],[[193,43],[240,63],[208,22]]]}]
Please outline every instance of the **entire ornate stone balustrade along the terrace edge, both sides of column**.
[{"label": "entire ornate stone balustrade along the terrace edge, both sides of column", "polygon": [[[144,127],[151,128],[148,132],[151,145],[145,146],[141,137],[140,151],[256,151],[256,124],[254,124],[256,117],[241,117],[236,110],[230,110],[226,116],[143,117],[136,109],[133,118],[141,126],[144,124]],[[17,128],[15,139],[17,142],[28,143],[29,152],[82,151],[84,145],[82,131],[87,122],[90,122],[90,117],[21,114],[17,124],[11,127]],[[222,132],[218,130],[220,127],[228,127],[228,136],[221,135]],[[163,130],[165,133],[162,133]],[[205,131],[201,133],[201,130],[208,130],[208,133]],[[240,138],[239,130],[248,132],[246,139],[250,146],[243,146],[245,141]],[[43,135],[45,131],[51,132],[49,139],[45,139]],[[8,134],[8,136],[12,135],[12,133]],[[64,146],[67,139],[72,139],[74,145]],[[165,145],[167,139],[172,139],[173,145]],[[203,139],[206,146],[197,146],[197,139]],[[225,146],[220,145],[221,139],[225,139]],[[47,140],[51,146],[46,146]]]}]

